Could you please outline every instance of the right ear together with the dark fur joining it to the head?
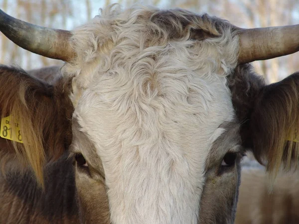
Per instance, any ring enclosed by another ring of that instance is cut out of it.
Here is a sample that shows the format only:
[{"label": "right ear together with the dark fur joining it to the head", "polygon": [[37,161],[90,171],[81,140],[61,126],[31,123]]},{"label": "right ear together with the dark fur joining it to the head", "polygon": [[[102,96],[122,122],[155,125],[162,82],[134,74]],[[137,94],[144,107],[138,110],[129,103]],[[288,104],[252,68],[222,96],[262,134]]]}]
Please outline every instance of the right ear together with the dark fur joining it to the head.
[{"label": "right ear together with the dark fur joining it to the head", "polygon": [[229,83],[243,145],[274,174],[281,165],[290,168],[299,160],[299,73],[265,85],[249,65],[242,65]]}]

